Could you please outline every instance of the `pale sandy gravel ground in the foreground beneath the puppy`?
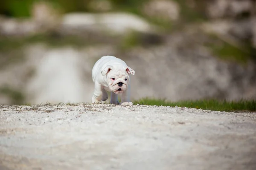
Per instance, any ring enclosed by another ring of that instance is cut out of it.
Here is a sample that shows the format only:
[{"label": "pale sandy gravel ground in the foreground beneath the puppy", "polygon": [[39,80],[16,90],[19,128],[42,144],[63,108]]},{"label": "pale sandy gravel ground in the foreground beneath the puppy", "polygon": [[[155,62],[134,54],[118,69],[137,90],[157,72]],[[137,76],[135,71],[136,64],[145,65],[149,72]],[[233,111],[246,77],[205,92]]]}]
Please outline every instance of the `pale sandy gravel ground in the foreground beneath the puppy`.
[{"label": "pale sandy gravel ground in the foreground beneath the puppy", "polygon": [[255,170],[256,113],[0,106],[0,170]]}]

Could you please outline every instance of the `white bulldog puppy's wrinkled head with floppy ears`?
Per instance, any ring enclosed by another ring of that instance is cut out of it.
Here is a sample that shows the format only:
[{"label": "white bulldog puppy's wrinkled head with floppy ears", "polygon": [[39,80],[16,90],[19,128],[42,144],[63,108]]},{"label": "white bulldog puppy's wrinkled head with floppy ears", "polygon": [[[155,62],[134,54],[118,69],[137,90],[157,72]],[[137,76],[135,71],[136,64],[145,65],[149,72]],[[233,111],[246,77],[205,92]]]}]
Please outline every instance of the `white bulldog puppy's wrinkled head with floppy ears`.
[{"label": "white bulldog puppy's wrinkled head with floppy ears", "polygon": [[135,71],[124,65],[108,65],[101,71],[101,74],[107,77],[109,90],[115,94],[121,94],[128,88],[129,75],[134,75]]}]

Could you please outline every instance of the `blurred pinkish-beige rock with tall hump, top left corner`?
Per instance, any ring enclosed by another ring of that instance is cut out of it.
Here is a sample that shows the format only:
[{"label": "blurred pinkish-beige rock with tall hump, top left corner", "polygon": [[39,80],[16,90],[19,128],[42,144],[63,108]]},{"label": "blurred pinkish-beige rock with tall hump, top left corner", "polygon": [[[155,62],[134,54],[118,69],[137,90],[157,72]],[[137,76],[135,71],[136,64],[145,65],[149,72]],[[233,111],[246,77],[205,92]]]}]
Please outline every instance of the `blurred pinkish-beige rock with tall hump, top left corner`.
[{"label": "blurred pinkish-beige rock with tall hump, top left corner", "polygon": [[0,18],[0,34],[28,37],[58,28],[58,11],[45,1],[36,1],[32,6],[31,18]]}]

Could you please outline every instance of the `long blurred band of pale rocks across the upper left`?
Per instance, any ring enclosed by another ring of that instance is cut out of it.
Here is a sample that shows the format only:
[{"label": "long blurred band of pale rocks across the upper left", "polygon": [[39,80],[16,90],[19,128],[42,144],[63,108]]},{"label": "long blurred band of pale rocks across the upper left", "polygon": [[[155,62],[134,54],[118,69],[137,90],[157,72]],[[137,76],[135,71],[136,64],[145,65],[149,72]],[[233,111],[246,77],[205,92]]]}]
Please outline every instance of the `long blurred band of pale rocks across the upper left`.
[{"label": "long blurred band of pale rocks across the upper left", "polygon": [[44,3],[35,4],[33,19],[0,18],[0,34],[27,37],[45,32],[99,32],[125,34],[128,31],[154,32],[156,26],[134,14],[128,13],[70,13],[62,20],[48,11]]}]

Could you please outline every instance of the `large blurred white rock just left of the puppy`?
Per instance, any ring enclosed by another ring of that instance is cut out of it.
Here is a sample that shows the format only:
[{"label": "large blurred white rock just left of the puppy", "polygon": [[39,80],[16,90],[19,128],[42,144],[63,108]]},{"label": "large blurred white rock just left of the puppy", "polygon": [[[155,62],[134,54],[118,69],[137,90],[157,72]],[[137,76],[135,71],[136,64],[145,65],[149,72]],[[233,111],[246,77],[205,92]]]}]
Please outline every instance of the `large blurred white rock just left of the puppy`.
[{"label": "large blurred white rock just left of the puppy", "polygon": [[72,48],[47,51],[27,85],[33,102],[83,102],[85,89],[79,71],[79,54]]}]

